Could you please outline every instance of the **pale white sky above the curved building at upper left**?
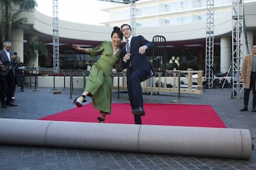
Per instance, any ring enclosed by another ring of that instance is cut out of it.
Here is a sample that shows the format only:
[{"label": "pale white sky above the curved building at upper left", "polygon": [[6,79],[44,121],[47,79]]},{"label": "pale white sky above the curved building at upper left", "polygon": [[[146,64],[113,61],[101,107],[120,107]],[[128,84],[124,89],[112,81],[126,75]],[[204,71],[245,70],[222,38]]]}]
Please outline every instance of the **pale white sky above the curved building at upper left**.
[{"label": "pale white sky above the curved building at upper left", "polygon": [[[50,17],[53,16],[53,0],[36,0],[36,2],[38,5],[36,10]],[[109,14],[100,9],[108,7],[110,3],[96,0],[59,0],[59,20],[101,25],[100,22],[109,19]]]}]

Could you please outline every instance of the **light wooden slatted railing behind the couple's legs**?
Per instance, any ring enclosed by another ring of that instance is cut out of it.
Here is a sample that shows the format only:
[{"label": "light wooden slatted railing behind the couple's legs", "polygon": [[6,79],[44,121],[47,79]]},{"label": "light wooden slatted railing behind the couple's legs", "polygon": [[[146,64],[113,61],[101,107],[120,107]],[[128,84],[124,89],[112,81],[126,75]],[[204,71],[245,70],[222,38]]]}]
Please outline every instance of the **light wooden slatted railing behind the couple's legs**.
[{"label": "light wooden slatted railing behind the couple's legs", "polygon": [[[127,91],[126,71],[116,73],[117,83],[114,81],[114,89]],[[166,70],[155,72],[155,76],[143,81],[143,92],[175,92],[187,94],[203,94],[203,71],[202,70]]]}]

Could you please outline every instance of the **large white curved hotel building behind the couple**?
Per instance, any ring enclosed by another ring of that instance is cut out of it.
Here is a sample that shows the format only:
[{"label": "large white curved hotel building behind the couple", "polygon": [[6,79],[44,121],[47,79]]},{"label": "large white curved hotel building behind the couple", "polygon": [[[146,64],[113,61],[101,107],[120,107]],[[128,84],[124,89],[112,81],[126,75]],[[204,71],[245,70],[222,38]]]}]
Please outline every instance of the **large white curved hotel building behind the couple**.
[{"label": "large white curved hotel building behind the couple", "polygon": [[[174,59],[179,59],[177,62],[181,70],[187,68],[205,70],[206,1],[137,1],[135,7],[135,34],[142,34],[149,41],[156,35],[164,36],[166,38],[167,64],[171,63],[174,57]],[[249,48],[255,42],[255,8],[255,0],[244,0],[244,17]],[[111,16],[108,21],[103,22],[105,26],[59,20],[61,68],[65,68],[68,52],[71,52],[75,65],[85,65],[88,60],[87,55],[77,54],[73,51],[73,43],[81,44],[84,47],[96,46],[101,41],[110,41],[113,26],[130,23],[129,4],[110,3],[102,10],[108,11]],[[231,63],[232,10],[231,0],[215,1],[215,73],[225,73],[229,70]],[[28,20],[20,28],[12,31],[13,49],[23,58],[23,43],[31,39],[40,39],[48,45],[50,56],[47,59],[42,59],[39,55],[33,66],[52,67],[53,18],[36,10],[23,12],[22,16],[27,17]],[[168,65],[167,68],[172,69],[171,65]]]}]

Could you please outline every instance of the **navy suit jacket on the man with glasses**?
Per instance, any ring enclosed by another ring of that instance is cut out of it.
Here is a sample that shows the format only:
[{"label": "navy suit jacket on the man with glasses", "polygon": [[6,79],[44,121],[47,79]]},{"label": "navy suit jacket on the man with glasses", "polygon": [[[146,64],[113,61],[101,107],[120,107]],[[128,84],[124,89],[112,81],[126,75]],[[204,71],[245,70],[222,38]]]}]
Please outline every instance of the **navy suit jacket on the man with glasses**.
[{"label": "navy suit jacket on the man with glasses", "polygon": [[[139,48],[144,45],[147,46],[148,49],[151,49],[153,47],[153,43],[147,41],[147,39],[143,38],[143,36],[132,36],[132,40],[130,41],[130,60],[127,63],[122,63],[123,67],[127,68],[127,75],[129,75],[130,68],[140,68],[147,71],[148,76],[151,75],[150,63],[148,62],[146,53],[139,54]],[[122,58],[124,57],[124,55],[126,55],[126,53],[126,46],[124,46],[122,47]],[[147,79],[148,76],[145,77],[145,79]],[[142,81],[144,81],[145,79],[142,79]]]}]

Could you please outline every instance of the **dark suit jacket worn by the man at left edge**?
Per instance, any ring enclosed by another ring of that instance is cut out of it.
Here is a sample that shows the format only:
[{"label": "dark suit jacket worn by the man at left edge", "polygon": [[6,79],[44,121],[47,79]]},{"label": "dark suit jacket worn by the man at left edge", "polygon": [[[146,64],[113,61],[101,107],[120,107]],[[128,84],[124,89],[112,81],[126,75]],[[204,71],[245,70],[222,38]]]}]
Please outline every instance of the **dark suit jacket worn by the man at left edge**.
[{"label": "dark suit jacket worn by the man at left edge", "polygon": [[[10,51],[10,57],[12,57],[12,55],[14,55],[13,51]],[[4,49],[2,49],[0,51],[0,59],[2,61],[2,64],[4,66],[6,66],[6,71],[4,71],[4,76],[7,76],[9,71],[10,71],[10,66],[12,67],[12,73],[14,73],[15,75],[15,60],[11,60],[9,61],[8,56],[6,54],[6,52],[4,51]]]}]

